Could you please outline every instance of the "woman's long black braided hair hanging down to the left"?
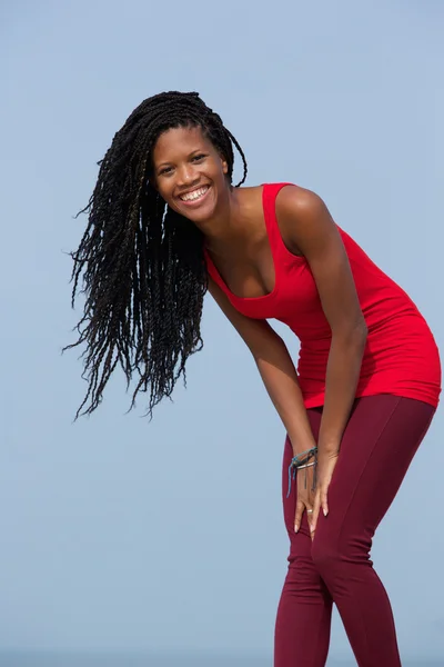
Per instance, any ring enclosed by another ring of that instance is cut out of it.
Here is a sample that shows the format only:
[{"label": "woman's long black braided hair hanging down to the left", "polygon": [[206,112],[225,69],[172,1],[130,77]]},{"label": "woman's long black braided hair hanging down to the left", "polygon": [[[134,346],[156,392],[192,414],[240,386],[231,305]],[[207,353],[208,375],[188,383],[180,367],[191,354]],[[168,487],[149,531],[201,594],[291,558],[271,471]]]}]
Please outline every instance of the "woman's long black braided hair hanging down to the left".
[{"label": "woman's long black braided hair hanging down to the left", "polygon": [[[203,235],[170,209],[149,178],[159,136],[179,127],[199,127],[228,162],[232,183],[234,153],[246,161],[221,118],[196,92],[162,92],[144,100],[115,133],[99,162],[88,206],[88,226],[71,252],[72,307],[85,296],[77,342],[85,344],[82,378],[87,395],[79,415],[91,414],[120,364],[127,385],[135,376],[130,409],[139,391],[149,394],[148,414],[170,397],[185,362],[202,348],[201,318],[208,275]],[[236,186],[236,187],[238,187]],[[81,289],[80,289],[81,286]]]}]

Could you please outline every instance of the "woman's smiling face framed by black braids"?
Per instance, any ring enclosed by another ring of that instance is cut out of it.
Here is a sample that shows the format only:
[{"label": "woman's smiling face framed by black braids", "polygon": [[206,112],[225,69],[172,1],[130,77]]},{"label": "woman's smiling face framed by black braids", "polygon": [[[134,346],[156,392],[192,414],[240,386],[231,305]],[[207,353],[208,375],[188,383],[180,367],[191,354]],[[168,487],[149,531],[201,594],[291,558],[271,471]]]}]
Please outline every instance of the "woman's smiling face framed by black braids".
[{"label": "woman's smiling face framed by black braids", "polygon": [[153,179],[169,207],[193,222],[209,220],[226,193],[226,161],[201,128],[172,128],[153,150]]}]

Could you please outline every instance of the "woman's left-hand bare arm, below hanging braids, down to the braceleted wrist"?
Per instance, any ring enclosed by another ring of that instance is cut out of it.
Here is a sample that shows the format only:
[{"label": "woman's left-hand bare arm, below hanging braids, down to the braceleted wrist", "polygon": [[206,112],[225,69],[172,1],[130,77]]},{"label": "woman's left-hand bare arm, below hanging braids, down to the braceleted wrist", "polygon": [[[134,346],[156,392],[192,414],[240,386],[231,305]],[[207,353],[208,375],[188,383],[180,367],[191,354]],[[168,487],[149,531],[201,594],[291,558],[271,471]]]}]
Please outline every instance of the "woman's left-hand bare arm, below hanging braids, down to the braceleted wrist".
[{"label": "woman's left-hand bare arm, below hanging braids, down to the braceleted wrist", "polygon": [[315,446],[297,381],[297,374],[282,338],[265,320],[248,318],[209,279],[209,291],[248,345],[266,391],[289,434],[294,455]]}]

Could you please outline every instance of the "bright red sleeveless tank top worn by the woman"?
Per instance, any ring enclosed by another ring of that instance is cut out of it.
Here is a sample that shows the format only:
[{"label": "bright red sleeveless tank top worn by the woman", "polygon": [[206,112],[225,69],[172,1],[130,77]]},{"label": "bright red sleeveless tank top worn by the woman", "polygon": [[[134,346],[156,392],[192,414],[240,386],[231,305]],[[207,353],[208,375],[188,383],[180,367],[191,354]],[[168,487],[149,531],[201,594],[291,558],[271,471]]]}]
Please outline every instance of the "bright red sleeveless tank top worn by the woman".
[{"label": "bright red sleeveless tank top worn by the woman", "polygon": [[[278,319],[301,341],[297,375],[306,408],[324,404],[331,329],[314,278],[304,257],[285,247],[275,213],[278,192],[290,183],[263,186],[263,209],[275,285],[263,297],[233,295],[205,252],[210,276],[244,316]],[[393,394],[436,407],[441,392],[441,365],[433,335],[412,299],[337,228],[353,272],[369,336],[356,397]]]}]

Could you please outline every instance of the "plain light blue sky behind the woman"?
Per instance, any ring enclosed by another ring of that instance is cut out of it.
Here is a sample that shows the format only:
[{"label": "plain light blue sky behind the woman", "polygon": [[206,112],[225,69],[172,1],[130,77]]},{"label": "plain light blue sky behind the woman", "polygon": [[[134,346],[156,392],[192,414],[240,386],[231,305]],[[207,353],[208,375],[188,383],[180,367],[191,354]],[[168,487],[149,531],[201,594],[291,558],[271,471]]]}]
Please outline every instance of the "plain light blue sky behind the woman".
[{"label": "plain light blue sky behind the woman", "polygon": [[[268,656],[283,428],[210,298],[174,404],[124,415],[119,376],[72,424],[72,216],[132,109],[198,90],[248,183],[319,192],[443,347],[443,4],[7,0],[0,26],[0,648]],[[442,448],[438,414],[374,545],[406,658],[444,656]]]}]

